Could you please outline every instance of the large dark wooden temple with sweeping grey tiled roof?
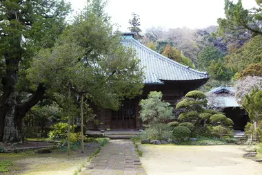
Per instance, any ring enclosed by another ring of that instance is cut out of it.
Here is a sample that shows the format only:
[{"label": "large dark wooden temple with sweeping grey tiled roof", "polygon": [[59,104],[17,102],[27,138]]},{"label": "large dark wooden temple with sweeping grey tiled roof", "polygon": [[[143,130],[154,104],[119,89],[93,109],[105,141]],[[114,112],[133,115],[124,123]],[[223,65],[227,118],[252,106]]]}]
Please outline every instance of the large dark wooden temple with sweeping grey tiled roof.
[{"label": "large dark wooden temple with sweeping grey tiled roof", "polygon": [[[125,33],[121,42],[124,46],[132,47],[137,57],[141,59],[141,67],[144,67],[145,86],[142,95],[133,100],[124,100],[119,111],[110,109],[96,111],[97,120],[101,122],[101,126],[97,129],[101,131],[105,129],[142,129],[142,122],[139,118],[139,101],[147,98],[150,91],[161,91],[163,100],[174,106],[178,99],[188,91],[205,84],[210,77],[206,72],[196,71],[151,50],[134,39],[133,33]],[[95,128],[89,124],[88,129]]]}]

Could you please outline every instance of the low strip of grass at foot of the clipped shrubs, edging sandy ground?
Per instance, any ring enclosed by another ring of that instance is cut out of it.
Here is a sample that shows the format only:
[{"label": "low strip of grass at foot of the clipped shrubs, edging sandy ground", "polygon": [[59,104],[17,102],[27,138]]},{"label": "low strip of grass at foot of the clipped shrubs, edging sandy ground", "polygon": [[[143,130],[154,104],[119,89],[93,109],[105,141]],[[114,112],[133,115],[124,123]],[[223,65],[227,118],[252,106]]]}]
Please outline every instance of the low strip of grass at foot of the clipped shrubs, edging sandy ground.
[{"label": "low strip of grass at foot of the clipped shrubs, edging sandy ground", "polygon": [[198,138],[196,141],[179,142],[177,145],[226,145],[228,142],[219,138]]}]

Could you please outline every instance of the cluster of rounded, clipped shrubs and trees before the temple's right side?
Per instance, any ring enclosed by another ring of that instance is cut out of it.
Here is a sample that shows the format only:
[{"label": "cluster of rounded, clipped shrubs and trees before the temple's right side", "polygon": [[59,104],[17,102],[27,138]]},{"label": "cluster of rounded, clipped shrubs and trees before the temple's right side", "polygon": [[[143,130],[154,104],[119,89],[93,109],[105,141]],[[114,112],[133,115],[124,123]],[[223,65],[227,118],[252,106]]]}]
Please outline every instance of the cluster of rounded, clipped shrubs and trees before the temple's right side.
[{"label": "cluster of rounded, clipped shrubs and trees before the temple's right side", "polygon": [[232,136],[233,121],[209,109],[205,93],[190,91],[175,109],[161,99],[162,93],[154,91],[141,100],[145,131],[134,140],[154,145],[225,145],[238,141]]}]

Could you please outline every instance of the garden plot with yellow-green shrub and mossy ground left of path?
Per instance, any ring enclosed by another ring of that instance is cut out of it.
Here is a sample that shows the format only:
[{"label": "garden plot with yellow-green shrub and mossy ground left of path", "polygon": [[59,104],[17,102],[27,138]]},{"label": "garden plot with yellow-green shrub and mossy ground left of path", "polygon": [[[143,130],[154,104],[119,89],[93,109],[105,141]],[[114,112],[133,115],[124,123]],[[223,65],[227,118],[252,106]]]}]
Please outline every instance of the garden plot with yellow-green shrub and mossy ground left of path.
[{"label": "garden plot with yellow-green shrub and mossy ground left of path", "polygon": [[[3,174],[78,174],[88,161],[99,153],[108,138],[86,138],[81,132],[70,132],[68,124],[52,126],[48,138],[28,138],[20,143],[1,143],[0,172]],[[77,131],[76,126],[72,130]]]}]

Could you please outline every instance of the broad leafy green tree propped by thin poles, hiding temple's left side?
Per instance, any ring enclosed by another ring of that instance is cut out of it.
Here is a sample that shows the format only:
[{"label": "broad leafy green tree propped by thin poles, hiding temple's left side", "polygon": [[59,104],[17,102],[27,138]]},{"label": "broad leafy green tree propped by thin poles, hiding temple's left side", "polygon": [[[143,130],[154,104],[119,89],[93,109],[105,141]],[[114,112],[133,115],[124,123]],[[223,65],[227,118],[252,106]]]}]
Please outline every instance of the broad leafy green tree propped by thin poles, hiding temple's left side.
[{"label": "broad leafy green tree propped by thin poles, hiding temple's left side", "polygon": [[53,98],[57,93],[62,99],[70,93],[71,97],[80,96],[81,109],[85,100],[117,110],[121,100],[141,93],[143,72],[139,59],[132,48],[121,44],[120,33],[113,33],[104,6],[102,0],[92,1],[63,31],[52,49],[39,51],[27,70],[32,84],[46,84],[46,94]]}]

